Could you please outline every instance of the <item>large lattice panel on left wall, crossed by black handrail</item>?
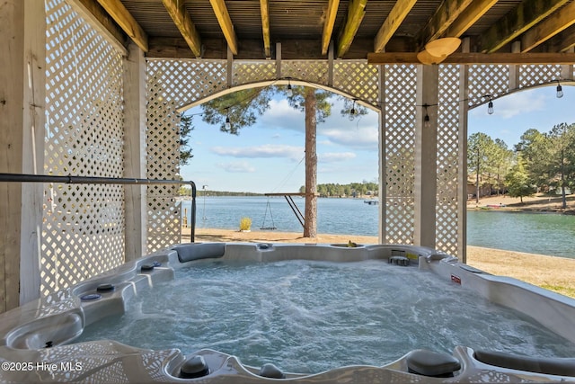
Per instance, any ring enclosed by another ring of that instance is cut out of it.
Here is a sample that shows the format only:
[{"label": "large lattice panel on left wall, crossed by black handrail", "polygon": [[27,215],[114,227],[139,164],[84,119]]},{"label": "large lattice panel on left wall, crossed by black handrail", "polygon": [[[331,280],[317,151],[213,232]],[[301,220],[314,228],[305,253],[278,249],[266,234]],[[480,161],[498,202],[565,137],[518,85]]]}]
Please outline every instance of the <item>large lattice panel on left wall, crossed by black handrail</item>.
[{"label": "large lattice panel on left wall, crossed by black handrail", "polygon": [[[122,58],[63,0],[47,0],[45,174],[121,177]],[[119,185],[46,184],[40,293],[124,261]]]}]

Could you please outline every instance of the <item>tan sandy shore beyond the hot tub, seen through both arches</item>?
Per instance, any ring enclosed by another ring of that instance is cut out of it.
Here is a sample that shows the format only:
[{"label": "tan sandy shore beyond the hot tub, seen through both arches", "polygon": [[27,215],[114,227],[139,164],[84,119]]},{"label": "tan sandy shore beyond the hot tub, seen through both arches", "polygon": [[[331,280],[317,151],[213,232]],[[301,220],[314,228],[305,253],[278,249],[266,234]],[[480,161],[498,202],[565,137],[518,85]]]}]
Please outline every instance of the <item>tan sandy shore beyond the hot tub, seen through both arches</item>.
[{"label": "tan sandy shore beyond the hot tub, seen through both arches", "polygon": [[[182,241],[190,241],[190,229],[183,229]],[[231,229],[196,228],[196,241],[252,243],[347,243],[377,244],[377,237],[326,235],[302,237],[301,233],[277,231],[239,232]],[[500,249],[467,247],[467,263],[492,274],[510,276],[547,290],[575,298],[575,259],[525,254]]]}]

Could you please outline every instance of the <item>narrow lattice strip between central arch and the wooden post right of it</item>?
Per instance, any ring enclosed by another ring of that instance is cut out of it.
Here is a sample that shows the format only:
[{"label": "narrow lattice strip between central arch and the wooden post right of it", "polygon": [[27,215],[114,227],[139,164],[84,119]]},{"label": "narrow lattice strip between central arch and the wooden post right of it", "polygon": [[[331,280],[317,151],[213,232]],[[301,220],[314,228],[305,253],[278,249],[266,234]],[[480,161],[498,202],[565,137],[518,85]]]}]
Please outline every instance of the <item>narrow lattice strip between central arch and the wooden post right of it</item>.
[{"label": "narrow lattice strip between central arch and the wooden post right of it", "polygon": [[385,66],[385,242],[413,244],[415,66]]}]

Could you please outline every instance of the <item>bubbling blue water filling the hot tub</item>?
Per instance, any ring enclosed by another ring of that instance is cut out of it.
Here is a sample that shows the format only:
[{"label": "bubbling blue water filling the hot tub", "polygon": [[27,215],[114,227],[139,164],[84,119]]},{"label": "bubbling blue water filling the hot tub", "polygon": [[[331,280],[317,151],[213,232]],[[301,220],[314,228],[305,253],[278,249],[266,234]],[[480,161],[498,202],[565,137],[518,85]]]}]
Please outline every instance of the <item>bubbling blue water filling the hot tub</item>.
[{"label": "bubbling blue water filling the hot tub", "polygon": [[304,373],[383,365],[418,348],[451,353],[456,345],[575,355],[575,345],[517,311],[431,272],[374,260],[191,263],[74,342],[102,339],[184,354],[211,348]]}]

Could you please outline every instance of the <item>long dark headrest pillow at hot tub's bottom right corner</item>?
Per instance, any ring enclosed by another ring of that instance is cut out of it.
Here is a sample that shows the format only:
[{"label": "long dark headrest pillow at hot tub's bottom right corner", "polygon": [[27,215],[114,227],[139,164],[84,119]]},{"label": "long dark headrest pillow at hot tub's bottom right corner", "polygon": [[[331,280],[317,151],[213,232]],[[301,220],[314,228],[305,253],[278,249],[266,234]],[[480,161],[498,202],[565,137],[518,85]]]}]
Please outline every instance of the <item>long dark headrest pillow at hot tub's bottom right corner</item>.
[{"label": "long dark headrest pillow at hot tub's bottom right corner", "polygon": [[557,376],[575,376],[575,359],[517,356],[494,351],[475,351],[473,357],[485,364],[511,370]]}]

